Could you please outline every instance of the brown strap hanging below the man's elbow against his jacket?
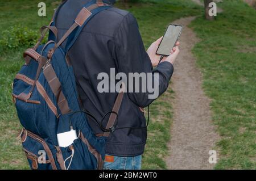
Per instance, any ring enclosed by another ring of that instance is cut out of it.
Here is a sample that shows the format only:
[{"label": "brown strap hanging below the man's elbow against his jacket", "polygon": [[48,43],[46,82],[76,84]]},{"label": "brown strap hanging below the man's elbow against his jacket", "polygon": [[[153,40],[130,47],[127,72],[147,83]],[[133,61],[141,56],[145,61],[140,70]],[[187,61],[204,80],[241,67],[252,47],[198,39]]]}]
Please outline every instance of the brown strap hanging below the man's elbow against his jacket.
[{"label": "brown strap hanging below the man's elbow against his jacket", "polygon": [[[113,106],[112,111],[115,113],[118,113],[119,108],[121,106],[122,100],[123,100],[123,94],[125,92],[125,83],[122,83],[122,89],[119,91],[117,95],[117,99],[115,99],[115,103]],[[111,113],[109,116],[108,124],[106,125],[106,129],[112,128],[115,124],[115,119],[117,119],[117,115],[115,113]],[[105,132],[103,136],[108,137],[110,132]]]}]

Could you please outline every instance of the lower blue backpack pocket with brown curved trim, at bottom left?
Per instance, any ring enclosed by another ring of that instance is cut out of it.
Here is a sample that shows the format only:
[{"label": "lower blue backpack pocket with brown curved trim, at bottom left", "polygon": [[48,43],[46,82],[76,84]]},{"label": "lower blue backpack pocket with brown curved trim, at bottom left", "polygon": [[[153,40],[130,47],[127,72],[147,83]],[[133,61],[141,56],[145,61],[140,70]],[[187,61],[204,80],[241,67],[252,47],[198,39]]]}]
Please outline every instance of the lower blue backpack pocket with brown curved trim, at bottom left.
[{"label": "lower blue backpack pocket with brown curved trim, at bottom left", "polygon": [[31,169],[57,169],[52,151],[43,138],[23,128],[20,140]]}]

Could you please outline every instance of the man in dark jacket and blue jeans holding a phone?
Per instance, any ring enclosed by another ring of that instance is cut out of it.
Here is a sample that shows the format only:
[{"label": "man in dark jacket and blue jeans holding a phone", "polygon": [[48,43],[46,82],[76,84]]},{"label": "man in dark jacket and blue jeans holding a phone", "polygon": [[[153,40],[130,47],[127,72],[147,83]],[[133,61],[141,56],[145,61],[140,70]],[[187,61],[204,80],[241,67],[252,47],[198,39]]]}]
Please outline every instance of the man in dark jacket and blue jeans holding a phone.
[{"label": "man in dark jacket and blue jeans holding a phone", "polygon": [[[59,30],[58,39],[71,27],[73,20],[82,7],[90,0],[68,0],[56,17]],[[114,1],[111,1],[114,3]],[[98,74],[115,69],[115,74],[152,73],[159,74],[159,95],[168,87],[179,47],[171,55],[163,58],[158,65],[159,56],[155,54],[161,38],[155,41],[147,52],[144,49],[138,24],[132,14],[114,7],[101,11],[94,16],[82,30],[76,43],[69,51],[69,57],[77,80],[82,106],[97,120],[112,110],[118,92],[97,90]],[[65,45],[65,44],[64,44]],[[179,45],[179,43],[177,44]],[[158,65],[154,70],[152,66]],[[151,78],[154,82],[154,76]],[[128,87],[131,85],[127,85]],[[110,89],[110,88],[109,88]],[[118,112],[117,128],[145,127],[146,119],[141,111],[154,99],[148,98],[149,92],[128,92]],[[88,117],[94,133],[102,133],[97,124]],[[108,116],[104,120],[106,123]],[[104,169],[141,169],[141,158],[146,144],[146,129],[119,129],[110,133],[106,143]]]}]

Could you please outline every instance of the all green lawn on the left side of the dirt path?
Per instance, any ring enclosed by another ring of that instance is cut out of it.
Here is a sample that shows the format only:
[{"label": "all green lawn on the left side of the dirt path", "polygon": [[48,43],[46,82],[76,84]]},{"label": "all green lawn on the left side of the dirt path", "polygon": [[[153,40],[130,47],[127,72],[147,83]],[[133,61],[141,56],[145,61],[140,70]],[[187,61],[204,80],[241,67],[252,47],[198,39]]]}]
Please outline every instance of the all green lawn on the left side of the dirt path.
[{"label": "all green lawn on the left side of the dirt path", "polygon": [[[37,15],[38,2],[40,1],[0,0],[1,35],[13,32],[14,28],[11,27],[15,26],[36,31],[48,24],[57,1],[44,0],[47,5],[47,17]],[[138,19],[146,47],[162,36],[167,25],[173,20],[201,12],[200,7],[185,0],[142,1],[128,6],[122,4],[117,6],[131,11]],[[1,35],[0,39],[3,38]],[[28,47],[0,52],[0,169],[28,169],[20,142],[16,138],[20,124],[10,94],[11,82],[20,66],[24,64],[22,52],[26,48]],[[172,115],[170,94],[171,91],[168,90],[151,106],[151,123],[148,128],[146,151],[143,155],[143,169],[166,169],[163,158],[167,155],[166,144],[170,139]]]}]

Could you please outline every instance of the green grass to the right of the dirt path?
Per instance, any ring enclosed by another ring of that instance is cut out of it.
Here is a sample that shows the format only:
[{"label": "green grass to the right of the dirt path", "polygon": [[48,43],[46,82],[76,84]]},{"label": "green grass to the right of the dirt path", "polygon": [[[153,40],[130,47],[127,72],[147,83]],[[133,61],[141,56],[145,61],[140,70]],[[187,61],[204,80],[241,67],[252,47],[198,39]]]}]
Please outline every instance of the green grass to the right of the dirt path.
[{"label": "green grass to the right of the dirt path", "polygon": [[216,169],[256,169],[256,11],[238,0],[220,3],[214,22],[192,22],[193,49],[221,140]]}]

